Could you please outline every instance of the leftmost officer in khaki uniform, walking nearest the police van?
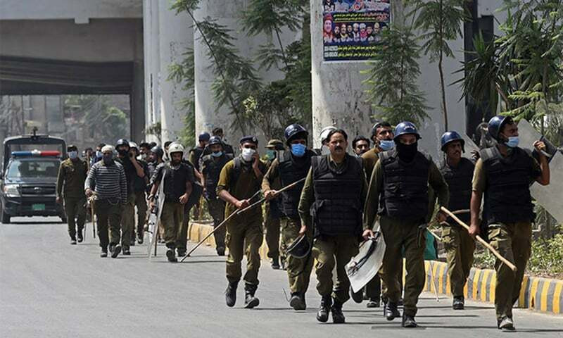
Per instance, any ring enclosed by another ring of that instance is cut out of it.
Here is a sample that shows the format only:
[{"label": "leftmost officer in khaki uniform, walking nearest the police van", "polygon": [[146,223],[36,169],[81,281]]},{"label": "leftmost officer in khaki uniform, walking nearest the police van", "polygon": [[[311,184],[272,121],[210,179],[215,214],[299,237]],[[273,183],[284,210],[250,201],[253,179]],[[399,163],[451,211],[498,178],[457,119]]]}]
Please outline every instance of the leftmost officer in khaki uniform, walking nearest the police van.
[{"label": "leftmost officer in khaki uniform, walking nearest the police van", "polygon": [[86,220],[84,181],[88,175],[88,164],[78,157],[77,146],[69,145],[66,150],[68,158],[58,167],[56,201],[61,204],[64,199],[70,244],[76,244],[77,238],[79,243],[84,238],[82,237]]}]

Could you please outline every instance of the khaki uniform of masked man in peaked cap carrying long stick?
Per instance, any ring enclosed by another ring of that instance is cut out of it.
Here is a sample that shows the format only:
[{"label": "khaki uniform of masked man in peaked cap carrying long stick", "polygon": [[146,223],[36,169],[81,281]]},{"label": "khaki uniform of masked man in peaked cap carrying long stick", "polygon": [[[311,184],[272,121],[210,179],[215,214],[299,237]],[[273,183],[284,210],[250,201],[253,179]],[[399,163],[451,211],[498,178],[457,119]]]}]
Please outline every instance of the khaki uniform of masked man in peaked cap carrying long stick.
[{"label": "khaki uniform of masked man in peaked cap carrying long stick", "polygon": [[[236,160],[236,158],[235,158]],[[243,165],[239,177],[233,177],[234,161],[227,162],[221,170],[219,183],[217,184],[217,195],[222,190],[227,190],[234,198],[243,200],[249,199],[260,189],[262,177],[256,177],[251,166]],[[265,173],[265,165],[260,162],[260,171]],[[233,181],[233,179],[236,181]],[[227,204],[225,208],[225,218],[236,212],[236,207]],[[246,253],[246,274],[243,277],[245,284],[251,287],[258,286],[258,270],[260,269],[260,245],[262,245],[262,209],[252,208],[244,214],[235,215],[227,222],[227,238],[225,244],[229,249],[227,257],[227,280],[230,283],[239,282],[242,277],[241,261]]]}]

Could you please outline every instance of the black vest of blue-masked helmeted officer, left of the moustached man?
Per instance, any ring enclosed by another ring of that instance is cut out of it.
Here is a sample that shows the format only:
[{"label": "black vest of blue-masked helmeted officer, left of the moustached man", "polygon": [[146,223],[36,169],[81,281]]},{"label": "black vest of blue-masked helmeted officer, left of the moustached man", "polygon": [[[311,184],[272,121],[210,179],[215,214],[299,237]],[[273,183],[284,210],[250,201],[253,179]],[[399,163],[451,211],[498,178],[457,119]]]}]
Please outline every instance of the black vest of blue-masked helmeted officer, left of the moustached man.
[{"label": "black vest of blue-masked helmeted officer, left of the moustached man", "polygon": [[[311,168],[312,156],[315,156],[315,153],[310,150],[305,152],[305,155],[301,158],[294,158],[291,155],[291,151],[284,151],[284,154],[278,159],[281,186],[286,187],[287,185],[306,177],[309,173],[309,169]],[[281,193],[281,201],[278,206],[284,216],[299,219],[297,207],[299,205],[299,199],[301,198],[303,185],[305,185],[305,182],[301,182],[295,187]]]}]

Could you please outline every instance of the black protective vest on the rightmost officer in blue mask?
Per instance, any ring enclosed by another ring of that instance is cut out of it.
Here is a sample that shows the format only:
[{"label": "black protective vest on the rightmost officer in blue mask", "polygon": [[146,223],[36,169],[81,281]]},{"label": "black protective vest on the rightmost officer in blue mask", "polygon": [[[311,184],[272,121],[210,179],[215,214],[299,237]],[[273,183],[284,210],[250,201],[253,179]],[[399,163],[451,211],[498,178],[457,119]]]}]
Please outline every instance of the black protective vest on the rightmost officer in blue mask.
[{"label": "black protective vest on the rightmost officer in blue mask", "polygon": [[538,173],[533,173],[533,158],[520,148],[505,158],[493,147],[481,151],[481,160],[487,177],[483,215],[487,225],[534,220],[530,183]]}]

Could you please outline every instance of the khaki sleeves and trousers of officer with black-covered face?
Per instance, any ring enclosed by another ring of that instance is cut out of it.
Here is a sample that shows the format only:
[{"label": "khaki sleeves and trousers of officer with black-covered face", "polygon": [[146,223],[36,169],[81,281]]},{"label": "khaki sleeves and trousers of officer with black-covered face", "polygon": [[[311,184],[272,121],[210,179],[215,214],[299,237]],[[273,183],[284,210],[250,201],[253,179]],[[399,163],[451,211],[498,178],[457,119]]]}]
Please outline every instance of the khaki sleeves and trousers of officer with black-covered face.
[{"label": "khaki sleeves and trousers of officer with black-covered face", "polygon": [[[438,196],[438,204],[447,206],[449,200],[448,184],[445,183],[440,170],[434,161],[430,161],[428,182]],[[374,220],[379,212],[379,198],[384,189],[383,167],[378,161],[374,166],[372,178],[365,203],[364,228],[372,229]],[[408,211],[405,211],[405,213]],[[379,222],[384,234],[386,250],[383,267],[380,271],[381,279],[387,286],[384,297],[392,303],[398,303],[401,290],[397,282],[397,271],[402,260],[401,251],[405,251],[405,280],[404,306],[405,315],[417,314],[418,297],[424,288],[424,248],[426,241],[424,230],[420,222],[405,221],[381,215]]]}]

